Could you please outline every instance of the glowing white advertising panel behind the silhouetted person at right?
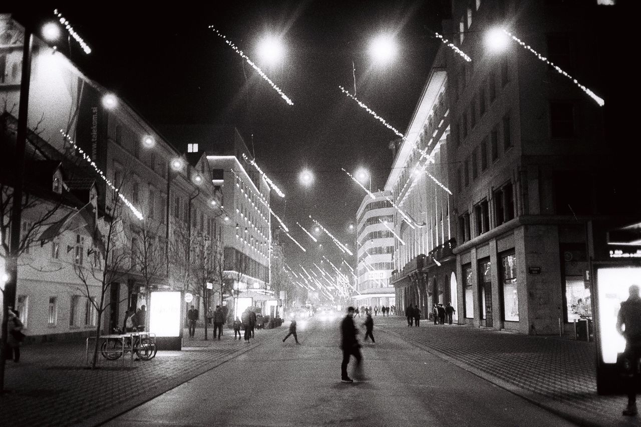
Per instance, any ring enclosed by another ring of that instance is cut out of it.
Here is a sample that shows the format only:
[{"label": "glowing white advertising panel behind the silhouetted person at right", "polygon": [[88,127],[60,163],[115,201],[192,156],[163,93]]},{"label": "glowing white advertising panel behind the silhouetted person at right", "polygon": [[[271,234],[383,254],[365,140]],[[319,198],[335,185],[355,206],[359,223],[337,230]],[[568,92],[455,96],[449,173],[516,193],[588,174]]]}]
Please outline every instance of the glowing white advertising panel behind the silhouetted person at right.
[{"label": "glowing white advertising panel behind the silhouetted person at right", "polygon": [[617,316],[630,285],[641,285],[641,267],[601,267],[596,276],[601,358],[603,363],[615,364],[617,354],[626,347],[626,340],[617,332]]}]

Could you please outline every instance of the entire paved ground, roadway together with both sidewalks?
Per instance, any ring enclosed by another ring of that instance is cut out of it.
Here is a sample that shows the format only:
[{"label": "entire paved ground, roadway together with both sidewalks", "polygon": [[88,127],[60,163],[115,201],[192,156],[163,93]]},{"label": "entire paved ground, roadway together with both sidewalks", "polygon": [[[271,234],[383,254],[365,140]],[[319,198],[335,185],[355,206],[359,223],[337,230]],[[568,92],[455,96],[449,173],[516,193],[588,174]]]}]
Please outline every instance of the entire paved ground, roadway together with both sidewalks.
[{"label": "entire paved ground, roadway together with both sidewalks", "polygon": [[[361,323],[363,317],[357,318]],[[150,362],[83,369],[79,344],[23,347],[0,400],[14,425],[633,426],[597,396],[594,344],[374,317],[365,380],[340,383],[338,320],[256,331],[251,344],[185,340]],[[70,404],[71,402],[71,404]],[[111,421],[110,421],[111,420]]]}]

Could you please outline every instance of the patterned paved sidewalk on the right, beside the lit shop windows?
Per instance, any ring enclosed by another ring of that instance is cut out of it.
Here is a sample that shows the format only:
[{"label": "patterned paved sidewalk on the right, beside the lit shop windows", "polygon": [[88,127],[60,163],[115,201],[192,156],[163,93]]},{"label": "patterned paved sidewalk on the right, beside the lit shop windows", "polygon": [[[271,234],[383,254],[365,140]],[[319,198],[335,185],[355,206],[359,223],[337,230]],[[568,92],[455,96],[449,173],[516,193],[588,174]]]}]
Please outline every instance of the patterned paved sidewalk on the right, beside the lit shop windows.
[{"label": "patterned paved sidewalk on the right, beside the lit shop windows", "polygon": [[427,321],[420,328],[409,328],[404,317],[384,319],[375,328],[401,335],[581,426],[640,425],[637,417],[621,415],[625,396],[597,395],[594,342]]}]

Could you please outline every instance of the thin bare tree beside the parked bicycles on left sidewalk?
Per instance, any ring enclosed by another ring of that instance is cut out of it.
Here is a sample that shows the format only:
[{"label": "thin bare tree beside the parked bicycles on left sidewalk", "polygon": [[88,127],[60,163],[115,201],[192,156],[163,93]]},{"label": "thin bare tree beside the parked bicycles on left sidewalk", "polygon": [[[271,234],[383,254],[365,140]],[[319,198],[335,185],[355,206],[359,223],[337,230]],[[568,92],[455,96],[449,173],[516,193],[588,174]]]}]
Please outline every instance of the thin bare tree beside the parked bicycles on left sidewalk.
[{"label": "thin bare tree beside the parked bicycles on left sidewalk", "polygon": [[[111,199],[110,218],[103,217],[100,226],[97,224],[94,230],[94,259],[88,260],[89,265],[74,262],[74,271],[83,284],[81,291],[96,310],[96,346],[92,369],[96,368],[103,313],[111,304],[106,301],[106,294],[112,283],[125,278],[135,265],[131,260],[131,246],[124,237],[126,225],[123,220],[128,215],[116,191]],[[100,228],[103,228],[103,233],[99,232]],[[92,292],[96,289],[97,299]]]}]

